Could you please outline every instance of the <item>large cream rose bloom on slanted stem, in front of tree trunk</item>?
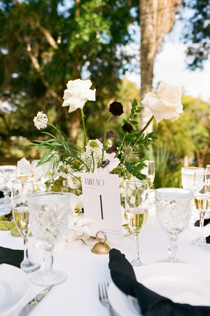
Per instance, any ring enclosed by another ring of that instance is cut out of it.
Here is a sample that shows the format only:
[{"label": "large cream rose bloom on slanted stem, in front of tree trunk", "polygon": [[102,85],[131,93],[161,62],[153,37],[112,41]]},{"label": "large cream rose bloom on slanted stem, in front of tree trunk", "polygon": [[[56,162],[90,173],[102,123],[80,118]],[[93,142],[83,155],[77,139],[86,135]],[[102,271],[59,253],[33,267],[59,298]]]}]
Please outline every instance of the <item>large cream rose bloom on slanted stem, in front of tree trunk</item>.
[{"label": "large cream rose bloom on slanted stem, in front of tree trunk", "polygon": [[161,82],[156,93],[148,92],[141,103],[151,110],[157,124],[162,119],[174,122],[183,113],[182,92],[173,84]]}]

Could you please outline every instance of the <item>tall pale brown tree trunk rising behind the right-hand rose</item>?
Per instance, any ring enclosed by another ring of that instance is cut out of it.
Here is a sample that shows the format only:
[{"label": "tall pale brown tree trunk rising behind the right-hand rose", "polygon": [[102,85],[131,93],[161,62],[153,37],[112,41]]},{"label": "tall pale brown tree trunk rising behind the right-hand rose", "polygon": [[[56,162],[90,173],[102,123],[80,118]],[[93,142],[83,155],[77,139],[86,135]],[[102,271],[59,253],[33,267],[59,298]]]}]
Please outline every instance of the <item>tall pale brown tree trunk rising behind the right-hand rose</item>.
[{"label": "tall pale brown tree trunk rising behind the right-hand rose", "polygon": [[[147,92],[152,92],[155,57],[164,39],[164,34],[170,32],[174,25],[174,10],[180,3],[179,0],[139,0],[141,100],[144,99]],[[151,116],[151,111],[145,107],[141,112],[142,127],[146,125]],[[152,129],[151,123],[145,133],[151,132]]]}]

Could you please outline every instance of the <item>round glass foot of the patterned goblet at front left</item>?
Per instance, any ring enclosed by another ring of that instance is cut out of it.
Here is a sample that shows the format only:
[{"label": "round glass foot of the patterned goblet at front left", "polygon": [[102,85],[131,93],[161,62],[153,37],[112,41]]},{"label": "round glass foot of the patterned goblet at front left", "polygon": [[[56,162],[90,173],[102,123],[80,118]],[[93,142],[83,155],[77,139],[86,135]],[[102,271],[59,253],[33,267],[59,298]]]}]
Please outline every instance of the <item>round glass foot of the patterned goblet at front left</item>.
[{"label": "round glass foot of the patterned goblet at front left", "polygon": [[64,282],[66,274],[60,270],[52,270],[52,272],[40,271],[31,276],[31,282],[40,286],[57,285]]}]

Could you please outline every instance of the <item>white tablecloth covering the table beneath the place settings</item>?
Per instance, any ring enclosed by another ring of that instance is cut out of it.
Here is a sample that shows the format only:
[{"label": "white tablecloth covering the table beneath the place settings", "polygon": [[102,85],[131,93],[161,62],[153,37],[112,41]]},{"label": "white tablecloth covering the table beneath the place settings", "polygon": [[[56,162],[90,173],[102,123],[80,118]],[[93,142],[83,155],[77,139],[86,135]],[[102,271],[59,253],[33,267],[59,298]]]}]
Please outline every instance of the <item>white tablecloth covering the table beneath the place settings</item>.
[{"label": "white tablecloth covering the table beneath the place settings", "polygon": [[[189,227],[179,234],[177,258],[189,264],[209,267],[210,247],[201,248],[189,244],[189,240],[199,234],[199,227],[194,227],[196,219],[198,216],[193,216]],[[210,235],[210,224],[204,227],[204,234]],[[35,248],[36,241],[34,237],[29,238],[29,258],[40,262],[41,269],[44,269],[44,251]],[[21,237],[12,237],[10,231],[0,231],[0,246],[23,249],[23,240]],[[110,246],[125,253],[129,261],[132,260],[133,237]],[[154,206],[150,208],[147,224],[140,236],[139,253],[145,264],[153,264],[159,258],[168,257],[167,234],[158,225]],[[30,316],[108,316],[107,308],[102,306],[98,299],[98,282],[111,282],[108,262],[108,254],[94,254],[91,252],[91,246],[85,244],[80,247],[65,247],[61,252],[54,252],[53,268],[65,271],[67,279],[64,283],[54,286],[32,310]],[[31,283],[29,294],[19,310],[42,289],[44,288]],[[13,315],[18,315],[18,311]]]}]

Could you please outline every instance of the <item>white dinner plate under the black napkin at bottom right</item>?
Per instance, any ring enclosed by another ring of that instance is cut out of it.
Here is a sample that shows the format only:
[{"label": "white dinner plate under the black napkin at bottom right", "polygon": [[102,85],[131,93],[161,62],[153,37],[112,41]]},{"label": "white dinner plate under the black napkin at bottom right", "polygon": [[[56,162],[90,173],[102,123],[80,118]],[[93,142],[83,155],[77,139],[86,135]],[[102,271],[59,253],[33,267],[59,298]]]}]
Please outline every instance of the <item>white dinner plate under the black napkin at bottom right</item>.
[{"label": "white dinner plate under the black napkin at bottom right", "polygon": [[[210,306],[210,271],[206,267],[182,263],[156,263],[134,268],[137,281],[176,303]],[[137,299],[121,292],[114,283],[108,298],[120,316],[141,315]]]}]

